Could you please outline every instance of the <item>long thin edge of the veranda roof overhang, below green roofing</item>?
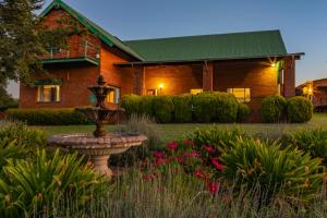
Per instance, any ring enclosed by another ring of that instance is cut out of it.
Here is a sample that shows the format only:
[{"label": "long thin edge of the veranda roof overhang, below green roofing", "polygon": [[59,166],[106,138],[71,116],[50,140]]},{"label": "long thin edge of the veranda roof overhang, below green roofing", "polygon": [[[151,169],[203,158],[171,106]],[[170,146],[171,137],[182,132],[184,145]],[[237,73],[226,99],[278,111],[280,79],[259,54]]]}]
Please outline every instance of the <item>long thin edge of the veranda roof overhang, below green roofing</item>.
[{"label": "long thin edge of the veranda roof overhang, below green roofing", "polygon": [[201,63],[206,61],[256,61],[256,60],[274,60],[279,61],[284,58],[292,58],[294,60],[300,60],[304,52],[298,53],[287,53],[287,55],[274,55],[274,56],[262,56],[262,57],[240,57],[240,58],[206,58],[197,60],[168,60],[168,61],[138,61],[138,62],[119,62],[114,63],[117,66],[130,68],[130,66],[149,66],[149,65],[177,65],[177,64],[190,64],[190,63]]}]

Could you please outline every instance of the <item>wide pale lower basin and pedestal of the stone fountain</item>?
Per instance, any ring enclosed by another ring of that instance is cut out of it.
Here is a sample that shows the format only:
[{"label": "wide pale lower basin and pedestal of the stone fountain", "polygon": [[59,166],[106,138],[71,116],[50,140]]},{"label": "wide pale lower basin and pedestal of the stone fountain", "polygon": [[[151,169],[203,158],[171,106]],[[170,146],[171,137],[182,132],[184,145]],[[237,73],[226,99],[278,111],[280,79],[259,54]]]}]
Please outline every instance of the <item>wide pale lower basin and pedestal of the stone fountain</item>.
[{"label": "wide pale lower basin and pedestal of the stone fountain", "polygon": [[106,133],[102,137],[95,137],[88,133],[52,135],[48,138],[51,146],[64,152],[77,152],[89,158],[95,170],[109,178],[112,171],[108,167],[110,155],[120,154],[132,146],[138,146],[147,137],[142,134]]}]

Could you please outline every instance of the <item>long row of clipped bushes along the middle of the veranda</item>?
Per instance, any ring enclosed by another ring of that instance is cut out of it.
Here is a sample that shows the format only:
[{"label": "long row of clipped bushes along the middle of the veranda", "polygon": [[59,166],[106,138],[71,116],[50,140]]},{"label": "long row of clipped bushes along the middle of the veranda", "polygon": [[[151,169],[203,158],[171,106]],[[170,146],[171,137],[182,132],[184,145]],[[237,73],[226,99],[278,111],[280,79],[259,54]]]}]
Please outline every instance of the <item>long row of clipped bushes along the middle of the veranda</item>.
[{"label": "long row of clipped bushes along the middle of the veranda", "polygon": [[179,96],[125,95],[122,107],[133,113],[154,117],[160,123],[187,122],[242,122],[250,116],[250,108],[239,104],[227,93],[202,93]]}]

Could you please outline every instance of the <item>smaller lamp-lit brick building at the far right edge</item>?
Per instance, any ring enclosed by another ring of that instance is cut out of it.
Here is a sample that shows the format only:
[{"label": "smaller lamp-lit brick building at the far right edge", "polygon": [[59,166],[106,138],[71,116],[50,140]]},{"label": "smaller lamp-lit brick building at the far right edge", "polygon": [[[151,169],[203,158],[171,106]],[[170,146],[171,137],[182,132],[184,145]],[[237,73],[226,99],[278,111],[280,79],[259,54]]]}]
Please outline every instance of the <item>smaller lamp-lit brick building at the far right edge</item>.
[{"label": "smaller lamp-lit brick building at the far right edge", "polygon": [[327,112],[327,78],[308,81],[299,85],[296,95],[310,98],[316,111]]}]

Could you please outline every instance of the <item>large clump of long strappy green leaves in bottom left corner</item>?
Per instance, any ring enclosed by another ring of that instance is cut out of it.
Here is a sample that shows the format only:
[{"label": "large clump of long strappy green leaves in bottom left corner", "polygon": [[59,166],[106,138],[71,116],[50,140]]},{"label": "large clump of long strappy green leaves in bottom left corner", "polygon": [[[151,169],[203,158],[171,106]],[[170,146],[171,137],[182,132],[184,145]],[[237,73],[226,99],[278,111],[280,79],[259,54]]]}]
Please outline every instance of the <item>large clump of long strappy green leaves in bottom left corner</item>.
[{"label": "large clump of long strappy green leaves in bottom left corner", "polygon": [[46,150],[38,150],[35,161],[9,161],[0,179],[1,217],[51,211],[52,202],[65,196],[85,206],[101,179],[76,154],[62,156],[57,150],[49,158]]}]

